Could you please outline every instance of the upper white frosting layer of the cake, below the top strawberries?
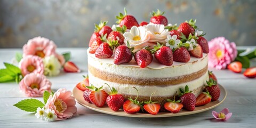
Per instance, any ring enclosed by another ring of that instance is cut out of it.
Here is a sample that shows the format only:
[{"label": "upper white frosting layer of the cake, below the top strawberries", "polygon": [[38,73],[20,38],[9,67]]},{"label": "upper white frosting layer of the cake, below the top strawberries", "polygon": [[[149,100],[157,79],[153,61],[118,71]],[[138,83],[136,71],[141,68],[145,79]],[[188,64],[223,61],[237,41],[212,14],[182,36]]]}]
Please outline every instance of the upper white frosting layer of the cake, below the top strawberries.
[{"label": "upper white frosting layer of the cake, below the top strawberries", "polygon": [[[177,77],[191,73],[195,73],[207,66],[208,56],[203,53],[203,58],[191,57],[187,63],[173,62],[172,66],[165,66],[157,62],[154,58],[153,61],[146,68],[140,68],[134,59],[129,63],[121,65],[114,64],[114,57],[107,59],[98,59],[94,54],[88,54],[88,64],[98,70],[106,71],[107,73],[123,75],[129,77],[140,78],[164,78],[164,77]],[[155,69],[155,70],[153,70]]]}]

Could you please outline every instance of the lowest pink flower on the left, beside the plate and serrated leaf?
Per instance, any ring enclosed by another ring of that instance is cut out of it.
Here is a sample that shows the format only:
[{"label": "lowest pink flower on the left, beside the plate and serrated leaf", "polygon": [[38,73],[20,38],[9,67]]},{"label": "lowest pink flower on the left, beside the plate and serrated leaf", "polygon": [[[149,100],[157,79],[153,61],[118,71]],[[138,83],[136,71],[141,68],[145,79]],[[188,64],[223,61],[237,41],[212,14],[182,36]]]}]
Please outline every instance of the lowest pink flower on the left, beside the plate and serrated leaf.
[{"label": "lowest pink flower on the left, beside the plate and serrated leaf", "polygon": [[53,96],[50,95],[44,108],[54,110],[55,115],[58,116],[57,120],[63,120],[76,116],[76,101],[71,95],[71,91],[59,89],[53,94]]}]

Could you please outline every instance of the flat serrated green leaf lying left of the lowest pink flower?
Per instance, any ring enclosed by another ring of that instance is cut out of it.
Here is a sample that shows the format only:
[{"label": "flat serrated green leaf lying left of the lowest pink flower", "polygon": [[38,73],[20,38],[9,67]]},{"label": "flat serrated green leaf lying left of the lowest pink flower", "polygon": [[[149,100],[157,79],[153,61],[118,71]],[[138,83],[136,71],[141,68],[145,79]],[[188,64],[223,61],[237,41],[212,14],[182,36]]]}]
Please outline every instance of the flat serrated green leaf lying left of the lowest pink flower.
[{"label": "flat serrated green leaf lying left of the lowest pink flower", "polygon": [[21,110],[29,111],[29,112],[36,112],[36,109],[38,107],[42,108],[44,107],[44,103],[37,99],[25,99],[21,100],[15,105],[13,105]]}]

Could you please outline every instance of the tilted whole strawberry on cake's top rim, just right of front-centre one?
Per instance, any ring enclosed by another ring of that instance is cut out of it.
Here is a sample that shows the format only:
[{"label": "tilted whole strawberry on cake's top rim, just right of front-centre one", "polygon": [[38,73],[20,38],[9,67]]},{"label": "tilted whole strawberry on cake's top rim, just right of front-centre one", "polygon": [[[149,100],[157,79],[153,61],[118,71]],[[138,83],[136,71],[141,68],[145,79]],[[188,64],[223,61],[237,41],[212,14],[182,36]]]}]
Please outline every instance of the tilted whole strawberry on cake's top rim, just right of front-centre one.
[{"label": "tilted whole strawberry on cake's top rim, just right of front-centre one", "polygon": [[170,47],[163,46],[159,43],[154,46],[154,49],[152,50],[159,63],[162,63],[166,66],[171,66],[173,63],[173,57],[172,57],[172,50]]}]

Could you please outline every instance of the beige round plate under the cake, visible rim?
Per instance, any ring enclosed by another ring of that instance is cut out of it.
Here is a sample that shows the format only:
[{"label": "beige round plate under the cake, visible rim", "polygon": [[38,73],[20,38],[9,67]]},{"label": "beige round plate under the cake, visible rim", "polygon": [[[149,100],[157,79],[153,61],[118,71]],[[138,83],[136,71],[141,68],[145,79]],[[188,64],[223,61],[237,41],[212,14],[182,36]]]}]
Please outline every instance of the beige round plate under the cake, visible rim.
[{"label": "beige round plate under the cake, visible rim", "polygon": [[147,114],[147,113],[136,113],[136,114],[126,114],[123,110],[119,110],[119,111],[113,111],[111,110],[107,105],[103,106],[103,107],[97,107],[91,103],[88,103],[84,100],[83,97],[83,91],[77,89],[77,87],[74,87],[73,89],[73,95],[76,98],[76,101],[86,107],[89,108],[91,110],[95,110],[98,111],[100,113],[105,113],[105,114],[110,114],[110,115],[116,115],[116,116],[126,116],[126,117],[143,117],[143,118],[154,118],[154,117],[172,117],[172,116],[184,116],[184,115],[190,115],[190,114],[196,114],[196,113],[201,113],[203,111],[206,110],[210,110],[212,108],[215,108],[217,106],[219,106],[227,97],[227,92],[224,89],[223,86],[220,86],[220,98],[217,101],[213,101],[208,103],[207,105],[204,106],[199,106],[196,107],[196,109],[194,111],[187,111],[185,109],[182,109],[179,113],[177,114],[172,114],[169,111],[167,112],[159,112],[157,115],[151,115],[151,114]]}]

